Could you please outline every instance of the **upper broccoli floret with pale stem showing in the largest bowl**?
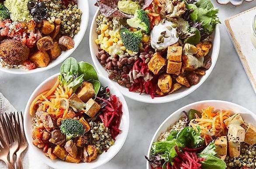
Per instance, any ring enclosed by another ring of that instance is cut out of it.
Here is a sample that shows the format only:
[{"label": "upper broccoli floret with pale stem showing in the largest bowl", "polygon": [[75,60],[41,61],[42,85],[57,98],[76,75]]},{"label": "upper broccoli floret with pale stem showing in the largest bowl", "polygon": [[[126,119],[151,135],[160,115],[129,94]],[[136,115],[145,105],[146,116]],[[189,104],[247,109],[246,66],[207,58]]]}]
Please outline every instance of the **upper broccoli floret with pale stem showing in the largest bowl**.
[{"label": "upper broccoli floret with pale stem showing in the largest bowl", "polygon": [[137,27],[145,31],[145,33],[149,33],[150,30],[150,22],[149,17],[146,14],[145,10],[138,9],[136,10],[134,17],[127,20],[127,24],[130,27]]}]

